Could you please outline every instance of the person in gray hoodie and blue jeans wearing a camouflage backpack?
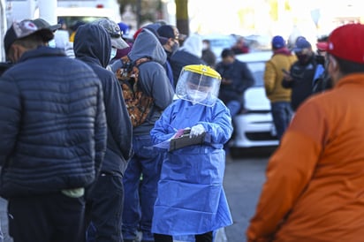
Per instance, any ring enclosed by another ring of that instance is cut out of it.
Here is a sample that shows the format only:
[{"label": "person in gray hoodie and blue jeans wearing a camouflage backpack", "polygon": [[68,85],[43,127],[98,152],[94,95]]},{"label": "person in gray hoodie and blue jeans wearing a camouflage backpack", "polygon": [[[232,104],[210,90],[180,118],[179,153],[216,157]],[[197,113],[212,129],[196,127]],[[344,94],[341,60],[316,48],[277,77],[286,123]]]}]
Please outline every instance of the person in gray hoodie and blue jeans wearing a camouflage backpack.
[{"label": "person in gray hoodie and blue jeans wearing a camouflage backpack", "polygon": [[151,31],[140,32],[128,57],[138,66],[140,89],[153,98],[154,105],[144,123],[133,128],[134,154],[123,178],[125,194],[128,194],[123,212],[123,237],[125,242],[131,242],[140,230],[142,241],[154,241],[151,223],[163,154],[153,148],[150,131],[173,101],[174,91],[163,68],[167,55]]}]

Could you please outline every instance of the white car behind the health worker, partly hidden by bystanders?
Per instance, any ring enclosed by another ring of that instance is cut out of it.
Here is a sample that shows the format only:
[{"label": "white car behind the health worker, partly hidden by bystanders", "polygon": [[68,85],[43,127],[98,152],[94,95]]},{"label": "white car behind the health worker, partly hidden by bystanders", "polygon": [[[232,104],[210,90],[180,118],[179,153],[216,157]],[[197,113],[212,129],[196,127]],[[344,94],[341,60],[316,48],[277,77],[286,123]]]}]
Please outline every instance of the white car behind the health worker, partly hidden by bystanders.
[{"label": "white car behind the health worker, partly hidden by bystanders", "polygon": [[276,147],[279,144],[263,80],[265,63],[271,56],[271,51],[236,56],[239,61],[247,64],[255,83],[244,95],[246,112],[234,117],[234,137],[229,143],[231,151],[235,148]]}]

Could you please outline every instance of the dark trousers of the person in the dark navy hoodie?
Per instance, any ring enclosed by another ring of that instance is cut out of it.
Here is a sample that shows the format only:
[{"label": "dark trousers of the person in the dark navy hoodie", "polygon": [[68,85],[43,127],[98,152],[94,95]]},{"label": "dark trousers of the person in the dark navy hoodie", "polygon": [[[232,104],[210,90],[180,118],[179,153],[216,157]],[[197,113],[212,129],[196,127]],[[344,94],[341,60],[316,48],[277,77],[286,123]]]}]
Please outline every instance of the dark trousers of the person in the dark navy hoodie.
[{"label": "dark trousers of the person in the dark navy hoodie", "polygon": [[[121,242],[124,186],[122,177],[101,173],[87,195],[87,242]],[[92,226],[89,226],[92,224]]]}]

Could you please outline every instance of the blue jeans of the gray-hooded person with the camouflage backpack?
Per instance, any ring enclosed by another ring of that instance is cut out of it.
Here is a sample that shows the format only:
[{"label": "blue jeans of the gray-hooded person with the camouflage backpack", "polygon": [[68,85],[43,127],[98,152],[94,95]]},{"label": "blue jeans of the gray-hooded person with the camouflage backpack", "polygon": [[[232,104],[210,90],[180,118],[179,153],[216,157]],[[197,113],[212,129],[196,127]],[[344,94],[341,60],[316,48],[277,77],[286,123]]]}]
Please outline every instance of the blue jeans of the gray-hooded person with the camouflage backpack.
[{"label": "blue jeans of the gray-hooded person with the camouflage backpack", "polygon": [[164,153],[157,151],[149,135],[133,137],[134,155],[123,178],[125,202],[123,237],[134,239],[137,231],[143,240],[154,241],[151,232],[153,209]]}]

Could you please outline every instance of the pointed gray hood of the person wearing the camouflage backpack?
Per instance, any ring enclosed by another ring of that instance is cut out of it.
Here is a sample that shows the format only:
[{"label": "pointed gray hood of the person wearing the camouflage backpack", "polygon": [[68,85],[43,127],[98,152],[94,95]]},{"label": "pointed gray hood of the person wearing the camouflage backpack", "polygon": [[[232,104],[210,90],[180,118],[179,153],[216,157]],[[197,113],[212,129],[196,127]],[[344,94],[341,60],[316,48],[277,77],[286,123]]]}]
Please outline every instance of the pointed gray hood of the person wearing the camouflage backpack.
[{"label": "pointed gray hood of the person wearing the camouflage backpack", "polygon": [[132,50],[127,55],[132,62],[149,57],[159,64],[164,64],[167,60],[162,44],[156,38],[155,34],[146,28],[143,28],[133,43]]}]

